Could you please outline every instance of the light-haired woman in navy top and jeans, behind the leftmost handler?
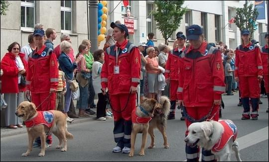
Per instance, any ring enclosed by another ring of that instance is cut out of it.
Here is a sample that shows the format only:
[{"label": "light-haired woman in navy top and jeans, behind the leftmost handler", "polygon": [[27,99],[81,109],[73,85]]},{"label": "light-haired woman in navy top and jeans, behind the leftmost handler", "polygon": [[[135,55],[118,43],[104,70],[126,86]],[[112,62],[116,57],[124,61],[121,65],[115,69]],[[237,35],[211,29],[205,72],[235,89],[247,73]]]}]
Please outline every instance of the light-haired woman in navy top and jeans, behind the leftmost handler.
[{"label": "light-haired woman in navy top and jeans, behind the leftmost handler", "polygon": [[64,102],[64,114],[67,117],[68,122],[72,122],[73,119],[69,118],[67,115],[67,112],[70,107],[71,97],[72,97],[72,91],[70,89],[70,82],[74,78],[74,69],[77,68],[78,62],[80,61],[80,58],[77,58],[74,63],[72,63],[71,58],[69,57],[69,52],[71,48],[71,43],[68,41],[62,41],[60,44],[60,49],[62,51],[61,55],[59,56],[59,66],[61,70],[65,73],[65,79],[66,79],[66,88],[67,91],[65,93],[65,102]]}]

